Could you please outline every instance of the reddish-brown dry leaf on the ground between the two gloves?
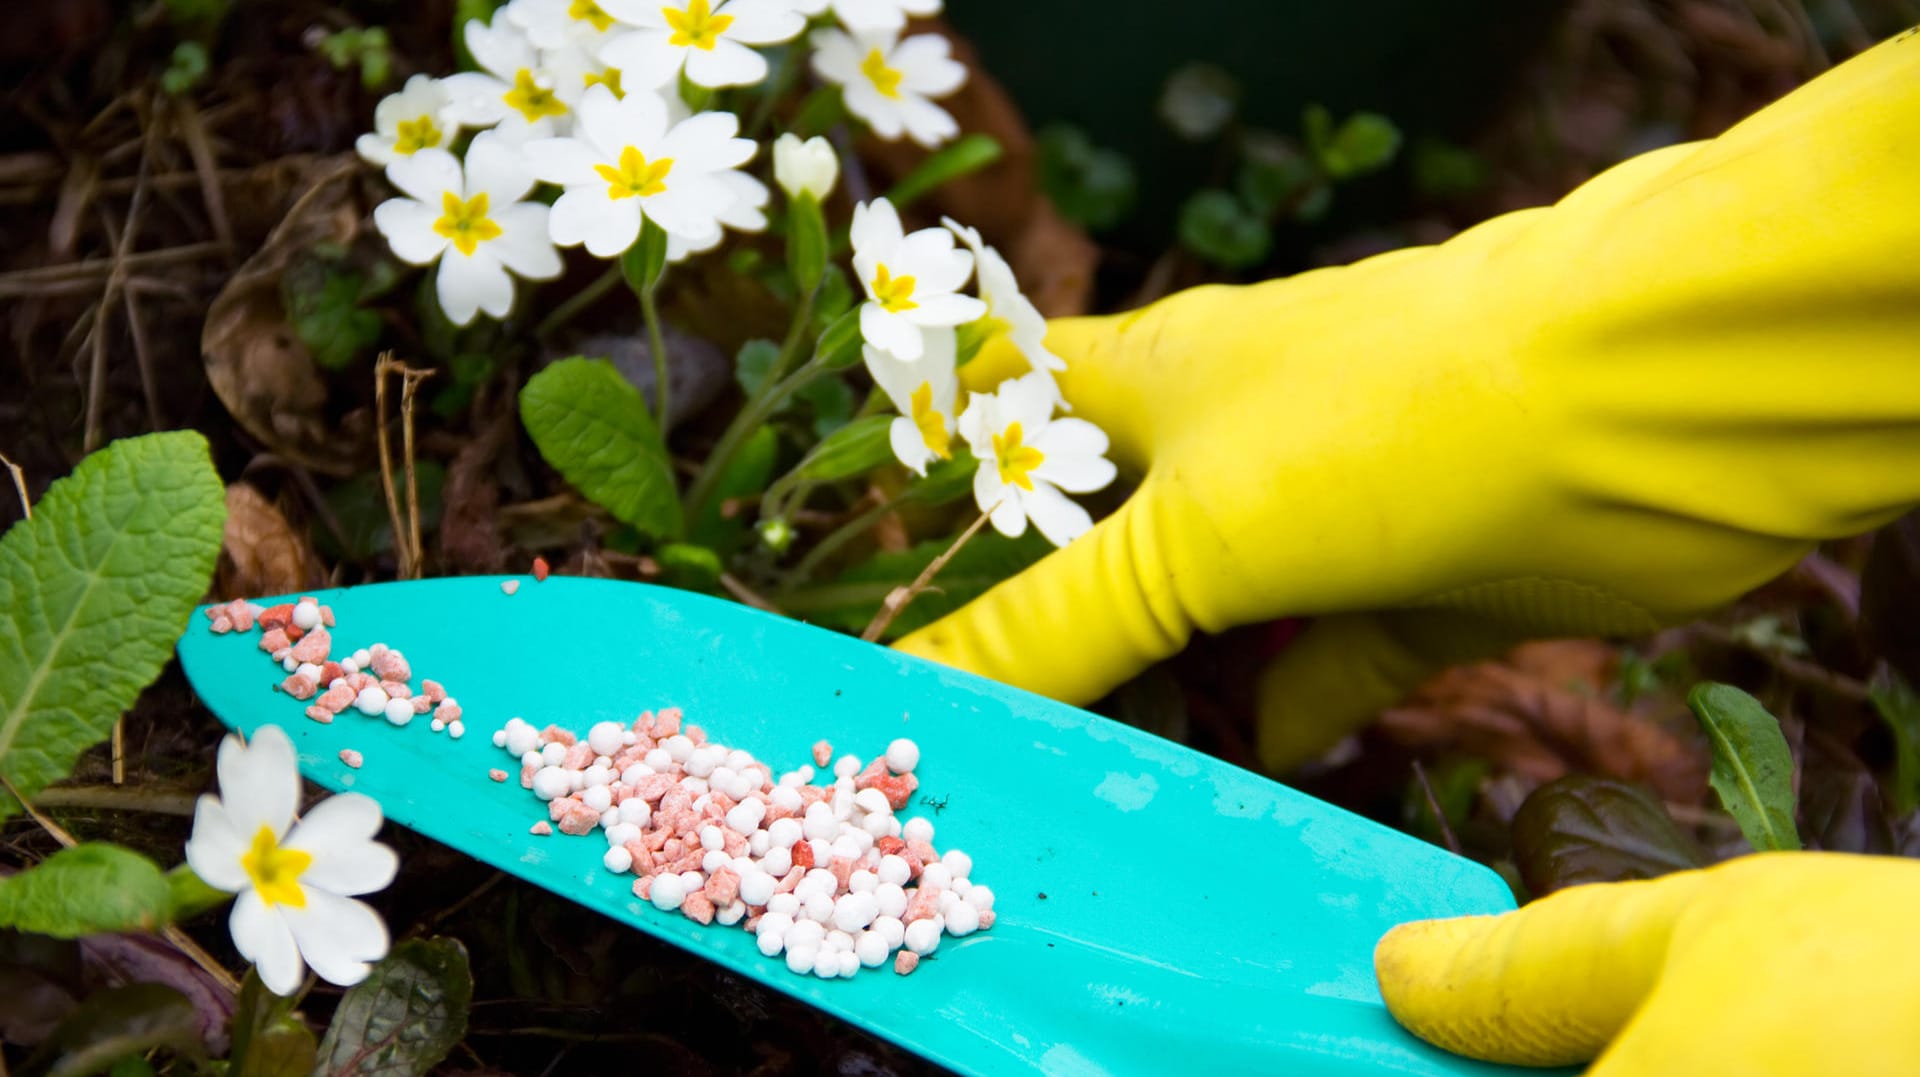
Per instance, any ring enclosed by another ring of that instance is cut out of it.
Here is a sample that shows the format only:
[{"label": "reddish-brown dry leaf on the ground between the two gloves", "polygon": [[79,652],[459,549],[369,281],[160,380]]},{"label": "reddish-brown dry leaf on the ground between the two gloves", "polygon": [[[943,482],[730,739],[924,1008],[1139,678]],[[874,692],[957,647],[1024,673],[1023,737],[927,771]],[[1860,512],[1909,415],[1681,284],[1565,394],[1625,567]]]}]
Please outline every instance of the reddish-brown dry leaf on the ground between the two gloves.
[{"label": "reddish-brown dry leaf on the ground between the two gloves", "polygon": [[1644,781],[1697,802],[1707,760],[1645,714],[1620,710],[1603,685],[1613,649],[1588,639],[1528,643],[1500,662],[1457,666],[1380,716],[1415,751],[1459,751],[1532,781],[1571,772]]}]

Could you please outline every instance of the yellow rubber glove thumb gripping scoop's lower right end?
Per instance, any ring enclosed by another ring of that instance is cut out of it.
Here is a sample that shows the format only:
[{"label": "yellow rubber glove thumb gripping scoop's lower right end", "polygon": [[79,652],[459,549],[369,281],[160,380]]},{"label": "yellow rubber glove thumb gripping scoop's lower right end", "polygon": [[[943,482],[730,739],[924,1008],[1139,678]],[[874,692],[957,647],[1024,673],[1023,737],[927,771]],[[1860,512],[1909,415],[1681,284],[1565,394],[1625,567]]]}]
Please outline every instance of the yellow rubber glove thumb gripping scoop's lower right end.
[{"label": "yellow rubber glove thumb gripping scoop's lower right end", "polygon": [[1763,852],[1404,923],[1375,950],[1421,1039],[1590,1077],[1920,1073],[1920,862]]}]

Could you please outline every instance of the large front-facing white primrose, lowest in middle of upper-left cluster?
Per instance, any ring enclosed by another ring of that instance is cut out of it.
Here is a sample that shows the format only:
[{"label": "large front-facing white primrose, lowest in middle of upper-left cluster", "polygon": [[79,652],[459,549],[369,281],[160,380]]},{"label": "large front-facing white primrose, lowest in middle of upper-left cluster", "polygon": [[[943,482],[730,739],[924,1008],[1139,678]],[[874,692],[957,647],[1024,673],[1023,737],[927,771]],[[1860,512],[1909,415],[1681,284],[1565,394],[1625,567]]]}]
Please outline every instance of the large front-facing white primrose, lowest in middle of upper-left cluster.
[{"label": "large front-facing white primrose, lowest in middle of upper-left cluster", "polygon": [[578,127],[574,138],[528,142],[526,159],[540,179],[566,188],[553,203],[553,242],[586,244],[595,257],[634,246],[641,219],[691,242],[716,238],[739,194],[718,173],[755,152],[751,138],[733,136],[733,113],[668,125],[666,102],[651,90],[614,100],[607,86],[589,86]]}]

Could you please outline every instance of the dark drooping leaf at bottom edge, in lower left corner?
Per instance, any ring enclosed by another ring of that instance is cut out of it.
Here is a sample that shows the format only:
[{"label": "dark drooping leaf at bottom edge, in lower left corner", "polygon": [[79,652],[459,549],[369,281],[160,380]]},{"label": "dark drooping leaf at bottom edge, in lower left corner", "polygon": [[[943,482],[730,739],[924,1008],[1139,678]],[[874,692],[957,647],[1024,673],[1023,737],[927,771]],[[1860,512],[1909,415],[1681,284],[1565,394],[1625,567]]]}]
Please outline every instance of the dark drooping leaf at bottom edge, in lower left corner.
[{"label": "dark drooping leaf at bottom edge, in lower left corner", "polygon": [[161,1048],[202,1054],[194,1004],[171,987],[129,983],[88,994],[27,1060],[21,1073],[86,1077],[113,1069],[127,1056]]}]

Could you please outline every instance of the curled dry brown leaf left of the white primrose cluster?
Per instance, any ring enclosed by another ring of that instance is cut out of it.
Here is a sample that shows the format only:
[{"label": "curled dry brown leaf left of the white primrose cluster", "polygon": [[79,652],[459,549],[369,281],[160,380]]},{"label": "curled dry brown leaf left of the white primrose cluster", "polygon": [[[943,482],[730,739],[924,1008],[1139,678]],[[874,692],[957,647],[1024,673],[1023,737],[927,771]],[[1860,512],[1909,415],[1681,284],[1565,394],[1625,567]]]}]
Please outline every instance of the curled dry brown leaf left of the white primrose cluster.
[{"label": "curled dry brown leaf left of the white primrose cluster", "polygon": [[280,273],[313,244],[353,240],[367,215],[359,175],[359,157],[334,157],[213,299],[200,334],[207,380],[240,426],[275,453],[336,476],[351,474],[367,457],[372,424],[365,409],[328,415],[326,382],[286,323]]}]

